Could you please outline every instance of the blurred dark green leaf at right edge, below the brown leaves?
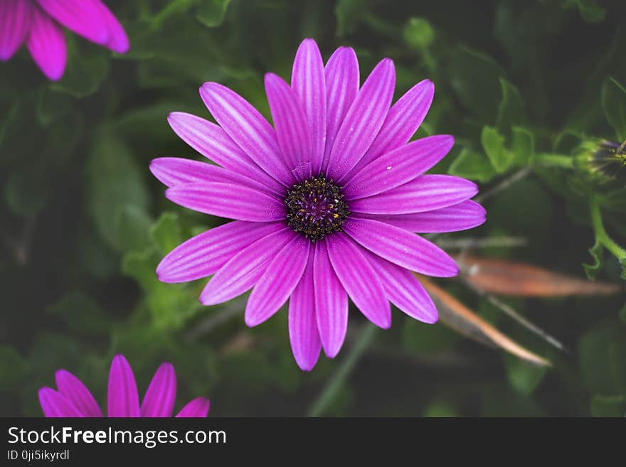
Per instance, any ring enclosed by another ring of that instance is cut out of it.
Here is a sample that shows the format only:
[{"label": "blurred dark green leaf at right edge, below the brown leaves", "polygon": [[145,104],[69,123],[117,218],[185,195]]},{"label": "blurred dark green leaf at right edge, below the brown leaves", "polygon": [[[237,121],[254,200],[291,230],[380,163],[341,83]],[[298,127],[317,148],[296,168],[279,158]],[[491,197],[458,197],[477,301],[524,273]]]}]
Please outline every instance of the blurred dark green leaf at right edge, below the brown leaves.
[{"label": "blurred dark green leaf at right edge, below the brown leaves", "polygon": [[600,323],[580,338],[578,354],[590,392],[626,395],[626,328],[615,319]]}]

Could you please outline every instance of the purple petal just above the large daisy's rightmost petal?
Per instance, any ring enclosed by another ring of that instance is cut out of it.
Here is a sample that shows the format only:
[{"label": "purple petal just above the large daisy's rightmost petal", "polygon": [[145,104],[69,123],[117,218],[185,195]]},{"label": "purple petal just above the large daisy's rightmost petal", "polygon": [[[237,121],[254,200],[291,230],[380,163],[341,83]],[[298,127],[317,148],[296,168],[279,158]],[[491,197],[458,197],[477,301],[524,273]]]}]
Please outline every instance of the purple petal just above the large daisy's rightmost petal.
[{"label": "purple petal just above the large daisy's rightmost petal", "polygon": [[350,210],[368,214],[410,214],[447,208],[478,193],[476,183],[450,175],[423,175],[384,193],[350,202]]}]

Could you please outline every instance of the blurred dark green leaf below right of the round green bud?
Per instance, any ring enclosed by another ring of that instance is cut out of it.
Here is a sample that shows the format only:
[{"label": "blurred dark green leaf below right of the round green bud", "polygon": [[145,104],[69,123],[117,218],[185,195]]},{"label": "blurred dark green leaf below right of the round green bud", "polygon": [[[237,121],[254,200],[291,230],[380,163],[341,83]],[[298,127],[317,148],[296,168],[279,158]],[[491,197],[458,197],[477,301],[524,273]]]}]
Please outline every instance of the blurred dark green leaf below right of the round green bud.
[{"label": "blurred dark green leaf below right of the round green bud", "polygon": [[489,56],[469,48],[456,48],[452,55],[450,85],[465,108],[480,122],[494,122],[501,100],[504,70]]}]

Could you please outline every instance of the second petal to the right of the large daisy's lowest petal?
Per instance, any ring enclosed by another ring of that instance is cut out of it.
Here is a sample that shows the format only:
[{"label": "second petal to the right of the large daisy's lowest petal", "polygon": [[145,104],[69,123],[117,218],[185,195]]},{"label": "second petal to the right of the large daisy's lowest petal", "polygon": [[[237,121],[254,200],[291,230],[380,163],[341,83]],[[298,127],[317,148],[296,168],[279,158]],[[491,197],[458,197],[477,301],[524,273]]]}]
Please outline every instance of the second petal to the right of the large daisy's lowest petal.
[{"label": "second petal to the right of the large daisy's lowest petal", "polygon": [[378,274],[361,247],[342,233],[334,233],[325,240],[333,270],[356,308],[376,326],[388,329],[391,308]]}]

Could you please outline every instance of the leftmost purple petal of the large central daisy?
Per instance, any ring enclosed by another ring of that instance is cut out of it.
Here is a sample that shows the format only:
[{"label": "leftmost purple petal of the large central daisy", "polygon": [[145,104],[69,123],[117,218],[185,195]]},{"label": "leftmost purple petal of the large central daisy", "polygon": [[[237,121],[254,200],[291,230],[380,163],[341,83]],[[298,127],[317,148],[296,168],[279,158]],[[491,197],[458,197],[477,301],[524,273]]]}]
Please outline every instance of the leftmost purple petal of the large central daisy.
[{"label": "leftmost purple petal of the large central daisy", "polygon": [[214,166],[211,163],[181,159],[179,157],[159,157],[150,162],[152,174],[166,186],[184,185],[195,182],[223,182],[240,183],[269,194],[263,183],[239,173],[229,171],[226,168]]}]

